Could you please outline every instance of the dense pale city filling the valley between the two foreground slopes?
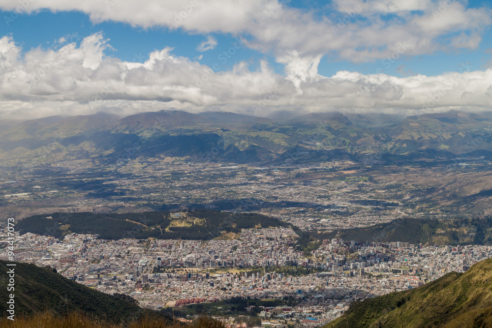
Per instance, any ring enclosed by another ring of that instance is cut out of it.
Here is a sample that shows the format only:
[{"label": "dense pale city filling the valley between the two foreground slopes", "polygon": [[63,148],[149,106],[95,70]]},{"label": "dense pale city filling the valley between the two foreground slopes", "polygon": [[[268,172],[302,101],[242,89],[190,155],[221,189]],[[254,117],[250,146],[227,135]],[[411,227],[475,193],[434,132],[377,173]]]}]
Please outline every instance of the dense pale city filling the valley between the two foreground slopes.
[{"label": "dense pale city filling the valley between the two foreground slopes", "polygon": [[[305,256],[296,251],[295,237],[293,230],[281,228],[244,229],[238,239],[208,241],[77,234],[59,240],[27,233],[16,237],[15,256],[155,309],[235,297],[292,297],[297,305],[281,307],[280,313],[278,307],[265,307],[260,318],[315,326],[343,314],[352,301],[416,288],[492,257],[491,246],[342,239],[325,239]],[[4,250],[0,260],[6,258]]]}]

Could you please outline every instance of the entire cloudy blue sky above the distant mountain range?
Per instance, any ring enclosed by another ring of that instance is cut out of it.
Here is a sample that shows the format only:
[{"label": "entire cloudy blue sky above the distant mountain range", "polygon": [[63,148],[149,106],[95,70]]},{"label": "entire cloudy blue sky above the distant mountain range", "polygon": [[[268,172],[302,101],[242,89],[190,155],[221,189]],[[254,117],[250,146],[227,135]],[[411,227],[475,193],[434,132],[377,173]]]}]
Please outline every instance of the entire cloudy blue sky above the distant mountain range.
[{"label": "entire cloudy blue sky above the distant mountain range", "polygon": [[0,0],[0,118],[492,104],[489,1]]}]

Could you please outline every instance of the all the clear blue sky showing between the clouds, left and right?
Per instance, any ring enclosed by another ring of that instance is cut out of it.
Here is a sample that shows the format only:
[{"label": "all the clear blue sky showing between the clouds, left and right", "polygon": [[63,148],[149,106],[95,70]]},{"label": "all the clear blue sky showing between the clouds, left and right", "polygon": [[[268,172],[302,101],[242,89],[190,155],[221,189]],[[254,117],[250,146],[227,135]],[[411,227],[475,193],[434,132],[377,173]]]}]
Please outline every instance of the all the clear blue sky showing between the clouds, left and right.
[{"label": "all the clear blue sky showing between the clouds, left and right", "polygon": [[[315,16],[337,15],[331,5],[326,1],[307,1],[296,0],[286,2],[292,8],[299,8],[302,11],[315,12]],[[488,1],[473,0],[467,4],[468,8],[490,7]],[[12,11],[0,11],[0,17],[11,17]],[[391,15],[389,15],[391,16]],[[17,17],[14,13],[13,17]],[[383,19],[385,17],[383,16]],[[386,17],[389,20],[389,17]],[[108,50],[107,56],[117,57],[125,61],[145,61],[149,59],[149,53],[155,49],[172,47],[172,53],[176,56],[187,57],[191,60],[198,60],[203,56],[201,63],[213,66],[219,64],[218,70],[230,70],[234,63],[247,61],[251,69],[256,69],[259,60],[268,60],[279,74],[283,73],[284,65],[278,64],[275,56],[271,53],[262,53],[247,47],[242,47],[228,60],[222,64],[219,59],[220,54],[227,50],[234,42],[236,36],[230,33],[210,33],[217,40],[215,49],[199,52],[196,47],[206,39],[206,35],[185,31],[183,29],[170,30],[165,27],[132,27],[128,23],[122,22],[101,22],[93,23],[88,14],[79,11],[61,11],[53,13],[48,9],[38,13],[22,13],[13,21],[0,25],[2,34],[11,33],[16,43],[24,50],[41,47],[44,49],[60,47],[55,40],[65,37],[71,42],[80,44],[81,40],[95,32],[102,31],[106,38],[110,39],[109,44],[114,51]],[[490,30],[482,34],[483,40],[476,49],[455,49],[449,52],[436,52],[430,55],[420,56],[400,56],[398,60],[384,61],[380,59],[369,60],[364,63],[354,63],[350,60],[340,59],[330,55],[325,55],[320,61],[318,73],[323,76],[332,76],[337,71],[357,71],[363,74],[375,74],[384,72],[395,76],[406,76],[412,74],[439,75],[449,71],[459,71],[463,64],[468,63],[468,67],[483,69],[491,60],[491,54],[487,52],[492,49]],[[388,65],[388,62],[391,65]],[[217,66],[215,66],[217,67]]]}]

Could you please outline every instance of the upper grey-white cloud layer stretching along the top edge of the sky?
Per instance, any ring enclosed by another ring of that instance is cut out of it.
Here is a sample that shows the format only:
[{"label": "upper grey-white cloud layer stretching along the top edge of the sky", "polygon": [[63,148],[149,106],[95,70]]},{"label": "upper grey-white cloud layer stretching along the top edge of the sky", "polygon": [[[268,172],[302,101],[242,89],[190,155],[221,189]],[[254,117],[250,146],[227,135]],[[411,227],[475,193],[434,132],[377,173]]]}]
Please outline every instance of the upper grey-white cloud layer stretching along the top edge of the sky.
[{"label": "upper grey-white cloud layer stretching along the top edge of the sky", "polygon": [[[391,55],[400,42],[412,45],[407,55],[475,49],[492,23],[490,9],[467,8],[452,0],[335,0],[333,12],[321,18],[278,0],[27,3],[23,10],[28,13],[41,9],[78,10],[90,15],[94,23],[116,21],[143,28],[247,35],[247,46],[273,53],[279,61],[297,51],[299,56],[312,59],[309,66],[324,54],[355,62],[381,59]],[[0,3],[3,10],[16,10],[18,6],[18,0]],[[203,44],[204,50],[214,46],[213,39],[209,40]]]}]

